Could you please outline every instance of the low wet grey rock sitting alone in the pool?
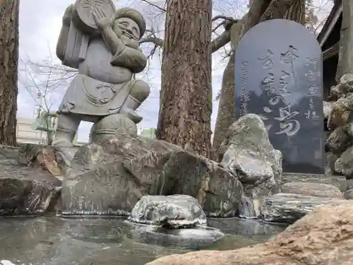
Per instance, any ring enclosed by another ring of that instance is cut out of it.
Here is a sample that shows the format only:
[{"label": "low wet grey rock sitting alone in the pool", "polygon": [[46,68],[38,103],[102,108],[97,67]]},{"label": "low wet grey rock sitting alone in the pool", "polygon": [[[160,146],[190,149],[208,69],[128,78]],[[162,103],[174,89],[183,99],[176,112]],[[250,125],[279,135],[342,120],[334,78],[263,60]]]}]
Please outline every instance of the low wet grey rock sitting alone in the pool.
[{"label": "low wet grey rock sitting alone in the pool", "polygon": [[207,225],[205,213],[198,200],[187,195],[143,196],[133,207],[128,220],[165,228]]}]

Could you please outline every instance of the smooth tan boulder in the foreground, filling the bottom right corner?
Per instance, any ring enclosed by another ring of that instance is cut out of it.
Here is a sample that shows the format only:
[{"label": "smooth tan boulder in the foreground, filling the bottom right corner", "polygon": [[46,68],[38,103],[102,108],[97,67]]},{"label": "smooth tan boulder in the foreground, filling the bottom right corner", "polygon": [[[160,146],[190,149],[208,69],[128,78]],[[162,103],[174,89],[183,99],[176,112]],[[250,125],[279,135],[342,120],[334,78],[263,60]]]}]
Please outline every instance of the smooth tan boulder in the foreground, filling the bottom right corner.
[{"label": "smooth tan boulder in the foreground, filling the bottom right corner", "polygon": [[318,207],[268,242],[229,251],[162,257],[148,265],[351,265],[353,202]]}]

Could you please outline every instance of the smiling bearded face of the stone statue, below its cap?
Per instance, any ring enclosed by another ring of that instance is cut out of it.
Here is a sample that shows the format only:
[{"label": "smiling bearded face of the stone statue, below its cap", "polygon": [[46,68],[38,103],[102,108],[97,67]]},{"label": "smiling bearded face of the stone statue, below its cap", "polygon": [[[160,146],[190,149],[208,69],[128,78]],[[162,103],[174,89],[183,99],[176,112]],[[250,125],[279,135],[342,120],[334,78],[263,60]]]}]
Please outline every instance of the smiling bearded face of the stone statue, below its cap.
[{"label": "smiling bearded face of the stone statue, below its cap", "polygon": [[131,18],[118,18],[114,21],[114,32],[126,46],[138,48],[140,28]]}]

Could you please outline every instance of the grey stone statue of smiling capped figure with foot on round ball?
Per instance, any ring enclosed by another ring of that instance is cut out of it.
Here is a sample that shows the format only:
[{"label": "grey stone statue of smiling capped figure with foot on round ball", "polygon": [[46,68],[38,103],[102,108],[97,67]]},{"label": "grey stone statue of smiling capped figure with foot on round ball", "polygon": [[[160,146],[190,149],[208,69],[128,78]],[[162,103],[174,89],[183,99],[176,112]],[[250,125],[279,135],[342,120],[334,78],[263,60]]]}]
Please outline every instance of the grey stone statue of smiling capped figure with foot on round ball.
[{"label": "grey stone statue of smiling capped figure with foot on round ball", "polygon": [[54,145],[72,146],[81,121],[94,123],[90,141],[109,139],[121,126],[136,132],[142,119],[136,109],[150,93],[148,83],[132,80],[147,63],[139,47],[144,33],[138,11],[115,11],[110,0],[77,0],[66,8],[56,54],[78,75],[59,106]]}]

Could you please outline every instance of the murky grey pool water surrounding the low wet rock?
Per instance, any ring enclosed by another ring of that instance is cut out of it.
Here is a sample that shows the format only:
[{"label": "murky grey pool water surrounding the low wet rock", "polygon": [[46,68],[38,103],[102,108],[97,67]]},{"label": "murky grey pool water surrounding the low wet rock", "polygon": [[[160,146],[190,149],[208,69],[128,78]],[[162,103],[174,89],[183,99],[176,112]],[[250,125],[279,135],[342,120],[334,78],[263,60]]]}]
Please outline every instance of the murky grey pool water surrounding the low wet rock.
[{"label": "murky grey pool water surrounding the low wet rock", "polygon": [[143,265],[167,254],[256,244],[284,229],[237,218],[212,219],[209,225],[225,237],[217,240],[217,232],[203,237],[209,232],[205,230],[156,230],[118,218],[0,218],[0,260],[16,265]]}]

